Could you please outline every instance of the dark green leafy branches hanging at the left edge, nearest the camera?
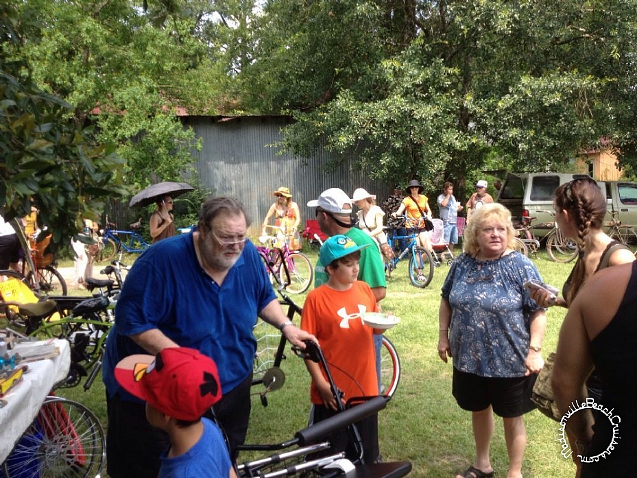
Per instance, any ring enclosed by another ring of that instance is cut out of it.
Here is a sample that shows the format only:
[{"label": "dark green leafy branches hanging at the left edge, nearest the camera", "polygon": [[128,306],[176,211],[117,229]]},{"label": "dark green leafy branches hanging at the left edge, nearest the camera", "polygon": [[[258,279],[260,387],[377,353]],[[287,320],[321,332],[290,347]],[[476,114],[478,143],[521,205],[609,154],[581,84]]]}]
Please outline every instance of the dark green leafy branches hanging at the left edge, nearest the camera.
[{"label": "dark green leafy branches hanging at the left edge, nearest the camera", "polygon": [[123,161],[76,121],[71,104],[34,84],[21,48],[40,27],[34,12],[0,5],[0,203],[9,220],[26,215],[34,198],[40,224],[60,244],[82,229],[82,217],[125,193]]}]

